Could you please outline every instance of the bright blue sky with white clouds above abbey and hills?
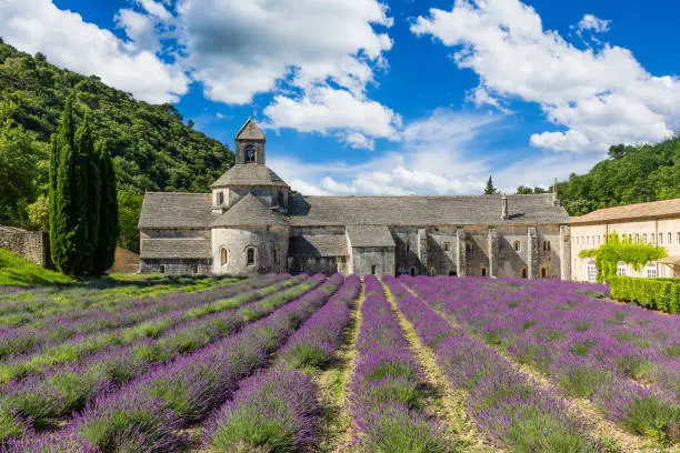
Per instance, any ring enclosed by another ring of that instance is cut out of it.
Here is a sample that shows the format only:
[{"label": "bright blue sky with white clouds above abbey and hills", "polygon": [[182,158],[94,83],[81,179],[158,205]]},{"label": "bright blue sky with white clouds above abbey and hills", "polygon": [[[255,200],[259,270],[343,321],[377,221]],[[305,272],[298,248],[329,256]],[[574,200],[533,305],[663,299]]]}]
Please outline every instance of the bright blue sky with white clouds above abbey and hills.
[{"label": "bright blue sky with white clouds above abbey and hills", "polygon": [[671,0],[7,0],[3,39],[233,147],[310,194],[479,193],[680,130]]}]

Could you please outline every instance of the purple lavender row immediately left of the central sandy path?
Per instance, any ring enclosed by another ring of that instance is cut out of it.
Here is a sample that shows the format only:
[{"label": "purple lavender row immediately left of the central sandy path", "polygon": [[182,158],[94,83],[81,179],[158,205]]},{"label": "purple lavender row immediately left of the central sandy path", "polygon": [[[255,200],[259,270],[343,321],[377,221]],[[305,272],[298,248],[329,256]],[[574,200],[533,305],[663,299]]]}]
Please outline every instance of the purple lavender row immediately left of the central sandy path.
[{"label": "purple lavender row immediately left of the central sandy path", "polygon": [[321,407],[312,376],[334,361],[360,286],[358,276],[349,276],[288,340],[274,366],[239,387],[203,433],[207,449],[229,451],[242,444],[293,452],[311,451],[318,444]]}]

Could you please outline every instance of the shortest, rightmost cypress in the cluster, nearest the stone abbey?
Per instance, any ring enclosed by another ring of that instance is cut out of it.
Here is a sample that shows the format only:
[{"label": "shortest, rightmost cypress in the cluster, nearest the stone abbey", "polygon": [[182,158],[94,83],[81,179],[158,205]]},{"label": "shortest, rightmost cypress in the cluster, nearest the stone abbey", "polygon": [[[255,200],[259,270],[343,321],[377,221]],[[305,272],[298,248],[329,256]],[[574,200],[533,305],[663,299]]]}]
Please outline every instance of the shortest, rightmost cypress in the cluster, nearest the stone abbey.
[{"label": "shortest, rightmost cypress in the cluster, nearest the stone abbey", "polygon": [[96,154],[99,158],[101,197],[99,207],[99,240],[94,251],[92,274],[101,275],[113,265],[119,234],[118,192],[116,189],[113,162],[107,141],[100,140],[97,142]]}]

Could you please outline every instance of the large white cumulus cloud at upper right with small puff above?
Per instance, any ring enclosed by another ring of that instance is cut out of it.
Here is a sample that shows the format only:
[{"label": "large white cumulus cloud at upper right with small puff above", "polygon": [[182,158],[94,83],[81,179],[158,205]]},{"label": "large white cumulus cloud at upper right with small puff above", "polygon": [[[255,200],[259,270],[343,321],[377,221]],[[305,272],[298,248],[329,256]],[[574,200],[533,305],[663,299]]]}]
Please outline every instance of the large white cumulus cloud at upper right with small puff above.
[{"label": "large white cumulus cloud at upper right with small puff above", "polygon": [[[598,32],[608,27],[588,14],[581,24]],[[620,142],[670,138],[680,124],[676,77],[650,74],[624,48],[579,49],[544,30],[540,16],[519,0],[457,0],[450,11],[419,17],[411,30],[457,48],[458,67],[481,79],[477,103],[539,103],[561,130],[533,134],[536,147],[603,152]]]}]

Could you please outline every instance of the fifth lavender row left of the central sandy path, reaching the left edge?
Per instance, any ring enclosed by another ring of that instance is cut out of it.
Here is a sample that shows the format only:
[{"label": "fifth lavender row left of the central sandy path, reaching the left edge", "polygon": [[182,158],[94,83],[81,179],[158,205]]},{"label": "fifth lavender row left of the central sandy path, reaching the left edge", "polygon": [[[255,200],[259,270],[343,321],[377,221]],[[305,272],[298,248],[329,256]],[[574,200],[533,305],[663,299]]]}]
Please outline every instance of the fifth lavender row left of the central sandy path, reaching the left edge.
[{"label": "fifth lavender row left of the central sandy path, reaching the left edge", "polygon": [[244,290],[264,289],[284,279],[286,275],[273,275],[198,293],[137,299],[121,303],[119,305],[123,306],[111,311],[102,311],[98,306],[72,310],[64,314],[44,316],[39,322],[30,322],[21,328],[0,328],[0,359],[53,346],[76,335],[130,328],[144,321],[158,323],[160,315],[172,318],[178,310],[233,298]]}]

